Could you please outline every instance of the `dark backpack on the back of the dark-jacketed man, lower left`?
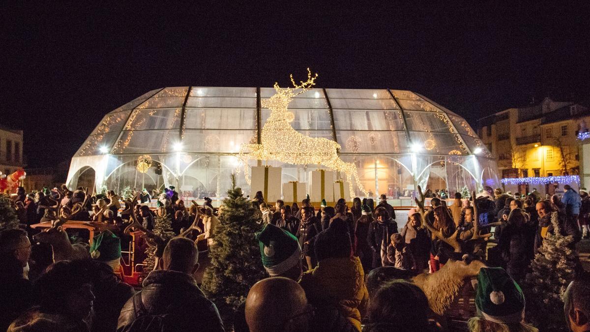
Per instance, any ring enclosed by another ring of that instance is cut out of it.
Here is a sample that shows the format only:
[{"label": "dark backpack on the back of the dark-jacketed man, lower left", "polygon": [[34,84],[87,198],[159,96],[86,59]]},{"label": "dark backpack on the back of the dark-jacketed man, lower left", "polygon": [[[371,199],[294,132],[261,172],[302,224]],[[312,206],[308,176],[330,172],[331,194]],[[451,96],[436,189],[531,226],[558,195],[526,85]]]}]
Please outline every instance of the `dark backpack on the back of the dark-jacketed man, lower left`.
[{"label": "dark backpack on the back of the dark-jacketed man, lower left", "polygon": [[133,310],[135,311],[135,320],[127,328],[126,332],[164,332],[164,331],[183,331],[183,321],[186,316],[182,315],[183,310],[175,305],[169,305],[166,312],[162,314],[150,314],[143,305],[142,294],[137,292],[133,295]]}]

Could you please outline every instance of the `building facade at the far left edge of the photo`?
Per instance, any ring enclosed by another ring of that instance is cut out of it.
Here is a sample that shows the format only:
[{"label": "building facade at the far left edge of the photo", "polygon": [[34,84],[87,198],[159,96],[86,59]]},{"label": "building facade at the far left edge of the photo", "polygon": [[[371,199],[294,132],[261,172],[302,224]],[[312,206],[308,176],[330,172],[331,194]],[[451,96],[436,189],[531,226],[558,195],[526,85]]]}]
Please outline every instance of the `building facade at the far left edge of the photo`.
[{"label": "building facade at the far left edge of the photo", "polygon": [[11,174],[23,167],[22,131],[0,125],[0,172]]}]

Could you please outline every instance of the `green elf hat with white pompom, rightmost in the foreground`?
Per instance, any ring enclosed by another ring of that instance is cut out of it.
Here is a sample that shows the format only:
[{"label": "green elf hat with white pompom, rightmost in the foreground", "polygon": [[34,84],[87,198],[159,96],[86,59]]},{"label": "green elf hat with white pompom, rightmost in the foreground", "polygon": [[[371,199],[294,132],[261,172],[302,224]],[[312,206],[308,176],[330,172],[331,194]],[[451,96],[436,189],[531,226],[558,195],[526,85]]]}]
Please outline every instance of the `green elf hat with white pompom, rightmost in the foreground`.
[{"label": "green elf hat with white pompom, rightmost in the foreground", "polygon": [[520,323],[525,318],[525,295],[503,268],[481,268],[477,280],[478,315],[499,324]]}]

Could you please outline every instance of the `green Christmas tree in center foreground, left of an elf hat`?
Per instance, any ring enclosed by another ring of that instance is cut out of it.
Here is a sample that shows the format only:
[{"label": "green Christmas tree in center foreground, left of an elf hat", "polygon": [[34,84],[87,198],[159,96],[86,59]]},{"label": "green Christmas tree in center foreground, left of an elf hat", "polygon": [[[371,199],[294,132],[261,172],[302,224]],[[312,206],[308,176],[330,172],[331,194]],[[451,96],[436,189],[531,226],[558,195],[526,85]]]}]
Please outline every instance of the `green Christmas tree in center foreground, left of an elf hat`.
[{"label": "green Christmas tree in center foreground, left of an elf hat", "polygon": [[260,217],[241,188],[235,187],[235,176],[219,226],[214,230],[215,245],[209,248],[211,266],[205,270],[202,287],[215,302],[224,323],[231,326],[235,308],[244,301],[255,282],[266,277],[260,259],[260,247],[254,235],[262,229]]}]

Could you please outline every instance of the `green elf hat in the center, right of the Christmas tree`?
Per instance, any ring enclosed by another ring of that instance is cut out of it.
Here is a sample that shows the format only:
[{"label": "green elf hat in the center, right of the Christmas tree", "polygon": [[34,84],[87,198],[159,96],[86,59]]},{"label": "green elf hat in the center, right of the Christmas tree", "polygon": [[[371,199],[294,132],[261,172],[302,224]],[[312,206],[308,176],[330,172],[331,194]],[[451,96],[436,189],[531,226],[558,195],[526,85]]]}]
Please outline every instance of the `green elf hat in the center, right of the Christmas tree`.
[{"label": "green elf hat in the center, right of the Christmas tree", "polygon": [[299,264],[301,247],[297,237],[273,224],[256,234],[264,269],[270,276],[284,274]]}]

